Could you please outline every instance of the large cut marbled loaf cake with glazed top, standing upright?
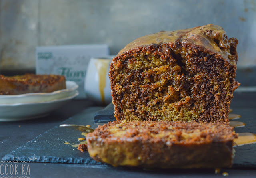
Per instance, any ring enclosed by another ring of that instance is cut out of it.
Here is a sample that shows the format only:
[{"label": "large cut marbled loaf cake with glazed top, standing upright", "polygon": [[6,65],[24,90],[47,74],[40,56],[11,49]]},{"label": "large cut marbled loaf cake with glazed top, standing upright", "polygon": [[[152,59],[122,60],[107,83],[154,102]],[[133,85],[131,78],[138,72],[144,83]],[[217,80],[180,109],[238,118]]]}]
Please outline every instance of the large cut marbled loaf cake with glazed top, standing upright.
[{"label": "large cut marbled loaf cake with glazed top, standing upright", "polygon": [[134,40],[110,65],[116,119],[228,122],[237,44],[214,24]]}]

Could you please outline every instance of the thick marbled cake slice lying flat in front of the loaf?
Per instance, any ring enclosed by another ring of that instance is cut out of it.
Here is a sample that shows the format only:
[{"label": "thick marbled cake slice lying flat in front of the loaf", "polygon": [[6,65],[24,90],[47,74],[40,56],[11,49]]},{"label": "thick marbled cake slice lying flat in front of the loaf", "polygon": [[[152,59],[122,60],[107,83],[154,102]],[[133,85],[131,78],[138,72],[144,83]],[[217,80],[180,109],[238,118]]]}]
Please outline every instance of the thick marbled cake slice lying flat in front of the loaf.
[{"label": "thick marbled cake slice lying flat in front of the loaf", "polygon": [[114,121],[86,136],[90,156],[113,166],[224,168],[232,165],[228,123]]}]

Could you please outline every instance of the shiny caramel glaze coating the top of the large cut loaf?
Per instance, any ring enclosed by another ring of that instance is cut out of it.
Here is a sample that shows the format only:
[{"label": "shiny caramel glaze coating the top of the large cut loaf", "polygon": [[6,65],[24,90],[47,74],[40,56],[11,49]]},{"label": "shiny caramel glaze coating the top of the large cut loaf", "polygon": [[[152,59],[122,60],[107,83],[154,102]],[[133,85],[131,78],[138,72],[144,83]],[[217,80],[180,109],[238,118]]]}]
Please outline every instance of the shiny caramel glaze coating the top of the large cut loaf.
[{"label": "shiny caramel glaze coating the top of the large cut loaf", "polygon": [[156,45],[165,47],[166,44],[170,44],[174,48],[175,44],[181,44],[183,47],[192,45],[199,51],[208,52],[211,55],[215,55],[216,58],[226,59],[232,65],[236,65],[237,59],[230,54],[230,43],[226,32],[222,27],[214,24],[184,30],[160,31],[142,36],[126,45],[118,55],[128,54],[133,49],[139,47],[147,48]]}]

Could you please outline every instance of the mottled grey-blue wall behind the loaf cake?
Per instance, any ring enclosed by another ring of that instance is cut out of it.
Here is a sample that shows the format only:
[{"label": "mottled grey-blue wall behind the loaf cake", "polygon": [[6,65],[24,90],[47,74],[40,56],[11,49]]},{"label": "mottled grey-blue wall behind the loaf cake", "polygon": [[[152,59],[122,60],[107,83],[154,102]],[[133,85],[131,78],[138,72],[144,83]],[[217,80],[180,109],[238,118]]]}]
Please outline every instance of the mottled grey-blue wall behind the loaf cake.
[{"label": "mottled grey-blue wall behind the loaf cake", "polygon": [[106,43],[115,55],[158,32],[218,24],[256,65],[256,0],[0,0],[0,67],[33,69],[35,47]]}]

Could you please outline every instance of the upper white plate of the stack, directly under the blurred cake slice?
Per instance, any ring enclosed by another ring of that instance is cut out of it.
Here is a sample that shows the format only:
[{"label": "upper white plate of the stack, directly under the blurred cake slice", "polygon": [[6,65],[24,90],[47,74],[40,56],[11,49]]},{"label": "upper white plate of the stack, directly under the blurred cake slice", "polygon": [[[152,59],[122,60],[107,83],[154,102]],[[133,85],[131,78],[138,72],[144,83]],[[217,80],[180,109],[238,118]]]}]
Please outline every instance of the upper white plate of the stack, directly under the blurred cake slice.
[{"label": "upper white plate of the stack, directly under the blurred cake slice", "polygon": [[66,89],[57,90],[51,93],[26,93],[21,95],[0,95],[1,104],[47,102],[67,97],[76,90],[78,85],[74,81],[66,81]]}]

